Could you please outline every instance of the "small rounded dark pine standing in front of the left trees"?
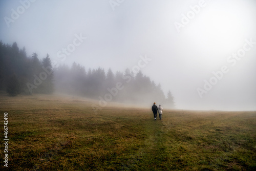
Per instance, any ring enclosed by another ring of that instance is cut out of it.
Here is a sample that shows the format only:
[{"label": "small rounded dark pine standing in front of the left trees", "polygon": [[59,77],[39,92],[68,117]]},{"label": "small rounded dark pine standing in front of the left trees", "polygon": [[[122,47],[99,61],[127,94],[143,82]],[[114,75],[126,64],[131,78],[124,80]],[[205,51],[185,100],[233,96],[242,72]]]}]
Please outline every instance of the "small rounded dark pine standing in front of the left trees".
[{"label": "small rounded dark pine standing in front of the left trees", "polygon": [[11,96],[16,96],[20,94],[20,85],[19,85],[17,76],[15,74],[13,74],[10,77],[9,82],[7,84],[6,92]]}]

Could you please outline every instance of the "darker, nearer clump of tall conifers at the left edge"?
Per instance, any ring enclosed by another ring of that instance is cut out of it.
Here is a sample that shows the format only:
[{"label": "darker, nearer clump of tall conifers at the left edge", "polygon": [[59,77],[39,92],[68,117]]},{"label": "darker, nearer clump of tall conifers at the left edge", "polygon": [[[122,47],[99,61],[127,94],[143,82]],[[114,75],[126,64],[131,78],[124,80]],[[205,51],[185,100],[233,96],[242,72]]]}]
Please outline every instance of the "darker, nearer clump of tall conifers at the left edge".
[{"label": "darker, nearer clump of tall conifers at the left edge", "polygon": [[[0,42],[0,91],[9,91],[11,83],[10,78],[14,81],[13,74],[19,82],[20,92],[23,94],[30,93],[52,93],[53,92],[53,73],[49,55],[39,60],[37,53],[27,57],[26,49],[20,49],[17,43],[12,46]],[[44,68],[49,71],[47,74]],[[47,77],[47,78],[46,78]],[[45,80],[46,79],[46,80]],[[29,86],[28,86],[29,85]]]}]

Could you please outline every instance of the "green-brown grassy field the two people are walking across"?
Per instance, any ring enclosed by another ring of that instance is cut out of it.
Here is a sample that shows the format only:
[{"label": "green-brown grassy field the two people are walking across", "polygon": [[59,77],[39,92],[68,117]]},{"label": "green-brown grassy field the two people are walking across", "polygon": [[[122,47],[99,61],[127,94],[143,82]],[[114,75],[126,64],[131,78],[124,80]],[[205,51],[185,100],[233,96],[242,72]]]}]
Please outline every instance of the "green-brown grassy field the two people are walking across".
[{"label": "green-brown grassy field the two people are walking across", "polygon": [[[106,106],[72,96],[1,95],[1,170],[256,170],[256,112]],[[164,108],[164,106],[163,106]],[[3,143],[2,143],[3,144]]]}]

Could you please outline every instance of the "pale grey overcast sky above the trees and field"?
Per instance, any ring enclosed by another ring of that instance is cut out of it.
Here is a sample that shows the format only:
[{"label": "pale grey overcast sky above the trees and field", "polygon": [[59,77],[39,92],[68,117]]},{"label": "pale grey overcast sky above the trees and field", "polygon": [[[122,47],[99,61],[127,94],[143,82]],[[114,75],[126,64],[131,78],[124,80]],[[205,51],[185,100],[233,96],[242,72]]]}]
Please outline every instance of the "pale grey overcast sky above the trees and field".
[{"label": "pale grey overcast sky above the trees and field", "polygon": [[256,110],[256,1],[3,0],[0,6],[0,39],[16,41],[28,56],[49,53],[57,65],[75,61],[114,72],[140,66],[173,93],[178,109]]}]

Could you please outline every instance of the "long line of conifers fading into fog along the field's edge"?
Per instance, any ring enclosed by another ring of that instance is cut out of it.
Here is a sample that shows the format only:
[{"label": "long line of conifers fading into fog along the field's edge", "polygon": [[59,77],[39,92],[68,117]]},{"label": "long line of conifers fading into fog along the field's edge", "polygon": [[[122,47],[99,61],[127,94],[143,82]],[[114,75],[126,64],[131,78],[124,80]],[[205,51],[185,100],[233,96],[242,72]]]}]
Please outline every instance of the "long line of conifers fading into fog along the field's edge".
[{"label": "long line of conifers fading into fog along the field's edge", "polygon": [[71,67],[60,65],[53,69],[47,54],[39,60],[26,49],[19,49],[16,42],[6,45],[0,41],[0,91],[9,95],[51,94],[54,91],[80,95],[104,101],[148,104],[162,103],[174,108],[174,97],[170,91],[165,97],[161,85],[150,77],[126,69],[113,73],[111,69],[88,69],[73,63]]}]

